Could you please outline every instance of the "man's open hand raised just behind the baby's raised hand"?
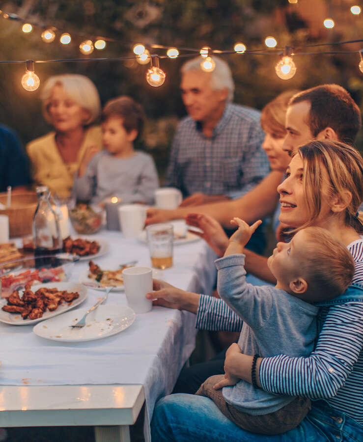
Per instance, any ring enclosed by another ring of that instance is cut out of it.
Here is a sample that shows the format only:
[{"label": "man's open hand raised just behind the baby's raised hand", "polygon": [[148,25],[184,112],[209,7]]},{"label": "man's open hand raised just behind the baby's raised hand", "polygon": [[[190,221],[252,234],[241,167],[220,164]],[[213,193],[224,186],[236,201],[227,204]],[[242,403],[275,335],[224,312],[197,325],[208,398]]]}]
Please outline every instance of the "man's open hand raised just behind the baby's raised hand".
[{"label": "man's open hand raised just behind the baby's raised hand", "polygon": [[198,227],[202,232],[190,230],[195,235],[203,238],[218,256],[223,256],[228,246],[228,237],[221,224],[209,215],[202,213],[190,213],[185,219],[186,223]]}]

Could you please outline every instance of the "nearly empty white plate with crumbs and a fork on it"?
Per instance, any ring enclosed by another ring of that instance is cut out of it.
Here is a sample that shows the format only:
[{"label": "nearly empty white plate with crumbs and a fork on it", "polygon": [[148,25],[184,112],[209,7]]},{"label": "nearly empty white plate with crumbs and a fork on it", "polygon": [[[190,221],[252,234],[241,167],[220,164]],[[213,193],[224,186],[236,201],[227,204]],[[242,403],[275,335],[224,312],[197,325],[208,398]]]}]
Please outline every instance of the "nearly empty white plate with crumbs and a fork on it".
[{"label": "nearly empty white plate with crumbs and a fork on it", "polygon": [[83,329],[69,327],[79,321],[86,311],[87,307],[69,311],[62,316],[37,324],[33,331],[38,336],[53,341],[94,341],[119,333],[135,321],[135,312],[127,305],[100,305],[89,313]]}]

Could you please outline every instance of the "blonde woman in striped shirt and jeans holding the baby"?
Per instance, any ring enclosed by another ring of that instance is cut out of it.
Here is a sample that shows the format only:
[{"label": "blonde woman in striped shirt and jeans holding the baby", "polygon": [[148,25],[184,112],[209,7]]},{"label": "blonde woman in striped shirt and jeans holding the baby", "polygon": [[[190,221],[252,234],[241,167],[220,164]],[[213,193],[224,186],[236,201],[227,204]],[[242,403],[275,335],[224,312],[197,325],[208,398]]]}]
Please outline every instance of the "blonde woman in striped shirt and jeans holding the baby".
[{"label": "blonde woman in striped shirt and jeans holding the baby", "polygon": [[[278,191],[281,222],[295,229],[324,227],[347,247],[356,267],[353,282],[344,295],[321,304],[321,331],[309,357],[252,358],[232,344],[226,353],[224,371],[226,379],[251,383],[251,367],[255,363],[258,387],[270,393],[311,398],[312,410],[295,429],[263,436],[237,427],[208,398],[175,394],[160,400],[154,410],[155,441],[363,440],[363,224],[357,213],[363,200],[362,157],[343,143],[311,141],[292,158]],[[213,324],[217,329],[241,329],[241,321],[223,301],[212,300],[204,308],[203,295],[182,293],[164,282],[155,285],[160,291],[150,294],[150,298],[160,294],[170,306],[195,311],[197,325],[199,322]]]}]

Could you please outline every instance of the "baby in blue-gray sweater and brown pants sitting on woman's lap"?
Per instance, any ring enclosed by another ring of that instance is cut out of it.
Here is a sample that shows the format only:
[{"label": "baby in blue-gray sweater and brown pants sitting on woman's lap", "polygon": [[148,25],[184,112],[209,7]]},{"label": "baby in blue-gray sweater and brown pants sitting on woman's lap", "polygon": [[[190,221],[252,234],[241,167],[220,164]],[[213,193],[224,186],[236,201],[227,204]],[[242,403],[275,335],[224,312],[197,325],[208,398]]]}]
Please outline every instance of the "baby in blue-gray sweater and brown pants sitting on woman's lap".
[{"label": "baby in blue-gray sweater and brown pants sitting on woman's lap", "polygon": [[[255,354],[254,361],[279,354],[307,357],[317,336],[318,307],[313,303],[344,293],[354,274],[352,255],[328,230],[307,227],[290,243],[278,243],[269,257],[276,286],[253,286],[246,283],[242,253],[261,221],[251,227],[239,218],[231,222],[238,230],[223,258],[216,260],[218,292],[243,319],[238,340],[242,353]],[[291,430],[310,409],[309,399],[268,393],[257,387],[253,375],[252,382],[211,376],[196,394],[211,398],[236,425],[260,434]]]}]

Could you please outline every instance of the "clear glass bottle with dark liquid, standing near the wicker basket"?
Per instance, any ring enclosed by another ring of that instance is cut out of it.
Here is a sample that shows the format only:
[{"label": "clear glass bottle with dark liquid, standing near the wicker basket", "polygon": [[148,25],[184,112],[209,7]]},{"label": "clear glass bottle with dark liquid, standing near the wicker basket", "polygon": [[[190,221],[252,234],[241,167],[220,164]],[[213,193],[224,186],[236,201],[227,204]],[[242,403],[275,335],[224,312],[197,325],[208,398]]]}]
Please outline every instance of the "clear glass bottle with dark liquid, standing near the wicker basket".
[{"label": "clear glass bottle with dark liquid, standing near the wicker basket", "polygon": [[[53,255],[61,252],[63,247],[58,217],[49,201],[48,187],[37,187],[36,194],[38,205],[33,217],[34,255]],[[38,259],[36,264],[41,265],[40,261]]]}]

